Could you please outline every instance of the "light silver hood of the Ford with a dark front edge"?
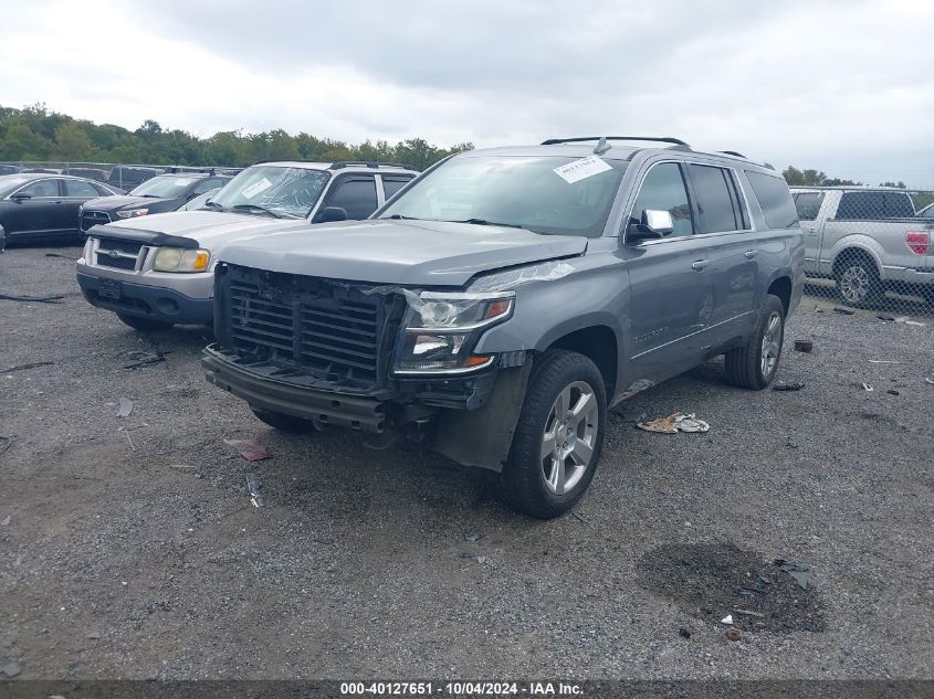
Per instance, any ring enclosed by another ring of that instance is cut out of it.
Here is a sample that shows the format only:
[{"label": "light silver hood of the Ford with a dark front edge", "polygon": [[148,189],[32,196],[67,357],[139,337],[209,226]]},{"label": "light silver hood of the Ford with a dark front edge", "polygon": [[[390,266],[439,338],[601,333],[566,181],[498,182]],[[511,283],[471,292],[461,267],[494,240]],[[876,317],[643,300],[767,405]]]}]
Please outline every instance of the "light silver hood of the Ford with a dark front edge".
[{"label": "light silver hood of the Ford with a dark front edge", "polygon": [[[260,235],[273,231],[311,229],[305,219],[285,220],[272,216],[258,216],[246,213],[224,211],[171,211],[138,219],[125,219],[108,223],[109,235],[119,237],[120,231],[140,231],[145,233],[165,233],[188,237],[201,247],[216,252],[219,245],[250,235]],[[102,231],[98,231],[102,233]]]}]

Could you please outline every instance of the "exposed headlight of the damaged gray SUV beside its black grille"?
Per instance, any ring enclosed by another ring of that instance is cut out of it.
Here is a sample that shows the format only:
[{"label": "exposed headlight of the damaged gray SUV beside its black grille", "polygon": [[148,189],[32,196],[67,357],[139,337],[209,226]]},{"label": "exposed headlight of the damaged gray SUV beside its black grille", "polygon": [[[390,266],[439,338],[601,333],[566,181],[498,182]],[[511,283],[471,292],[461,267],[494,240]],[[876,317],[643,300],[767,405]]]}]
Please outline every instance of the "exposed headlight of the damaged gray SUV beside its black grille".
[{"label": "exposed headlight of the damaged gray SUV beside its black grille", "polygon": [[472,354],[483,331],[513,313],[515,294],[434,294],[409,297],[395,373],[465,373],[493,363]]}]

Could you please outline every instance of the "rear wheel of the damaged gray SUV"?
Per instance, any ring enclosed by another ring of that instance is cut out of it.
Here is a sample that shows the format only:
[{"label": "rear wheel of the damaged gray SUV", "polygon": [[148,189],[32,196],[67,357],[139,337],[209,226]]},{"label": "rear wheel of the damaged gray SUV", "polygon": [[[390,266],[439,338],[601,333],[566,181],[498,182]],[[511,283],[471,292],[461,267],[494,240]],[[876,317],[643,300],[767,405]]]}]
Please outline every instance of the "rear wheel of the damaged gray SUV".
[{"label": "rear wheel of the damaged gray SUV", "polygon": [[726,380],[743,389],[766,388],[775,379],[784,341],[785,306],[777,296],[766,294],[745,347],[726,352]]}]

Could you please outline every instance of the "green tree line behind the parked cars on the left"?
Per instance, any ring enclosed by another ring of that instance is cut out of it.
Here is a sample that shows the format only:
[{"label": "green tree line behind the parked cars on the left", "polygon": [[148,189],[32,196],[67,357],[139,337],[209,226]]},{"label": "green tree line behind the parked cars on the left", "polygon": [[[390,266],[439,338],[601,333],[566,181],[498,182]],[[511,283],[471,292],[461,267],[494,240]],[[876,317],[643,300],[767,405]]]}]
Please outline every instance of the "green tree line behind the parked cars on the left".
[{"label": "green tree line behind the parked cars on the left", "polygon": [[391,145],[385,140],[351,145],[283,129],[261,134],[219,131],[199,138],[164,129],[147,119],[134,131],[50,112],[38,104],[22,109],[0,106],[0,161],[124,162],[245,167],[258,160],[379,160],[418,170],[472,144],[439,148],[422,138]]}]

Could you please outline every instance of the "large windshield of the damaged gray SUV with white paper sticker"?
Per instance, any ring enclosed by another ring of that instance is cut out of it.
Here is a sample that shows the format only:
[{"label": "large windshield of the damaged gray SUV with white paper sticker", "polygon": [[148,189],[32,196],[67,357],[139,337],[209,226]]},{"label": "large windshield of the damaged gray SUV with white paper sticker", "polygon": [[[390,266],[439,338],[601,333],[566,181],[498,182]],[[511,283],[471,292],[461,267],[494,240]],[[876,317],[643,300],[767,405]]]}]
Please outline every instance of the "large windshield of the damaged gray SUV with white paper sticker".
[{"label": "large windshield of the damaged gray SUV with white paper sticker", "polygon": [[[418,180],[379,218],[504,224],[596,237],[604,231],[628,163],[587,160],[459,156]],[[575,165],[562,167],[568,163]]]}]

